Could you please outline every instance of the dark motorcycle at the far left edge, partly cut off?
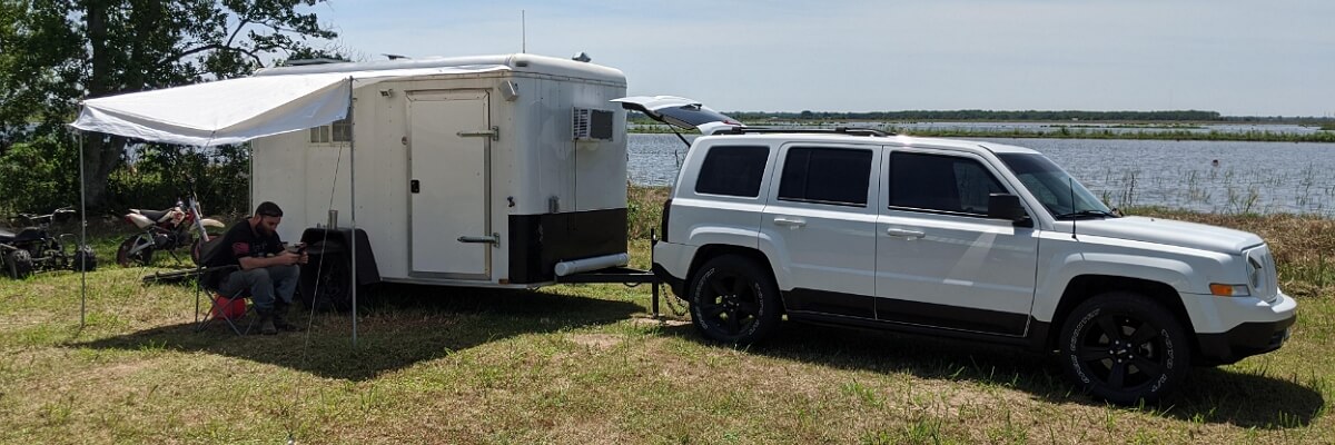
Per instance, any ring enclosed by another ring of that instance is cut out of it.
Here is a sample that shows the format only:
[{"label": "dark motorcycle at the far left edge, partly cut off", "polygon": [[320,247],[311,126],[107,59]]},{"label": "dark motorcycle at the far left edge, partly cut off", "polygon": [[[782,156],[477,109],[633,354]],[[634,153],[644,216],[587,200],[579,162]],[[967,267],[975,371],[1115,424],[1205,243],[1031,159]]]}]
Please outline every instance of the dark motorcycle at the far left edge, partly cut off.
[{"label": "dark motorcycle at the far left edge, partly cut off", "polygon": [[96,270],[97,255],[92,247],[79,246],[67,253],[65,246],[72,243],[69,241],[75,235],[51,235],[51,222],[57,215],[72,212],[73,208],[63,207],[49,215],[19,214],[19,218],[27,219],[31,226],[19,230],[17,234],[0,230],[0,267],[15,279],[29,277],[39,270]]}]

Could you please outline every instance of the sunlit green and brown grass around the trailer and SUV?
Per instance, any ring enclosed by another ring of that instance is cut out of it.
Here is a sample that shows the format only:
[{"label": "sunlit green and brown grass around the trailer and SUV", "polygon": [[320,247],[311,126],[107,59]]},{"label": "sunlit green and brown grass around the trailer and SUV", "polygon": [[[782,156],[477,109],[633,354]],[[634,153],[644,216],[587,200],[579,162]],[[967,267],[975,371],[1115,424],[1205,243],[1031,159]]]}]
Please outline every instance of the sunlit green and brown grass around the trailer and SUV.
[{"label": "sunlit green and brown grass around the trailer and SUV", "polygon": [[[665,192],[629,194],[647,233]],[[0,442],[1335,441],[1332,220],[1132,212],[1266,237],[1300,295],[1292,341],[1139,408],[1092,402],[1009,347],[794,323],[752,349],[709,343],[666,305],[666,323],[647,319],[643,286],[382,286],[354,349],[347,314],[296,317],[308,335],[195,333],[191,287],[108,265],[103,233],[83,329],[77,274],[0,278]],[[646,266],[647,242],[631,250]]]}]

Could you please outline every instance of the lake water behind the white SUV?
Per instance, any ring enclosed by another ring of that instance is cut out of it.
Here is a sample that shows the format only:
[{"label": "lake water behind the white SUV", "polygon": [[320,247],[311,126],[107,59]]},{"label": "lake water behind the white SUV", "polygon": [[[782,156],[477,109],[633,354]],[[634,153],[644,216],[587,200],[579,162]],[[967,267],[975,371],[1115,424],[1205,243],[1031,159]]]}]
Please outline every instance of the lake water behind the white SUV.
[{"label": "lake water behind the white SUV", "polygon": [[[973,140],[1037,150],[1116,207],[1335,216],[1335,144],[1330,143]],[[677,179],[686,146],[674,135],[633,134],[629,151],[633,183],[668,186]]]}]

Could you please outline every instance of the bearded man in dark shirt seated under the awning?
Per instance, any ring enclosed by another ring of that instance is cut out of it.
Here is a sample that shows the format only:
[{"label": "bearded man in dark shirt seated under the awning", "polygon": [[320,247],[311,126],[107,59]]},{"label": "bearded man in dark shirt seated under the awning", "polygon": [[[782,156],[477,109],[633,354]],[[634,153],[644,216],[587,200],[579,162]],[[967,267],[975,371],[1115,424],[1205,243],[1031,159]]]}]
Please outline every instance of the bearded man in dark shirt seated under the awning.
[{"label": "bearded man in dark shirt seated under the awning", "polygon": [[[283,210],[272,202],[255,207],[255,215],[232,225],[223,235],[212,255],[210,267],[240,265],[240,270],[228,270],[218,277],[218,291],[223,295],[236,295],[250,290],[251,302],[259,313],[259,333],[276,334],[302,330],[287,322],[287,307],[292,303],[300,267],[307,261],[306,253],[295,254],[283,249],[278,238],[278,223],[283,220]],[[228,251],[231,254],[228,254]]]}]

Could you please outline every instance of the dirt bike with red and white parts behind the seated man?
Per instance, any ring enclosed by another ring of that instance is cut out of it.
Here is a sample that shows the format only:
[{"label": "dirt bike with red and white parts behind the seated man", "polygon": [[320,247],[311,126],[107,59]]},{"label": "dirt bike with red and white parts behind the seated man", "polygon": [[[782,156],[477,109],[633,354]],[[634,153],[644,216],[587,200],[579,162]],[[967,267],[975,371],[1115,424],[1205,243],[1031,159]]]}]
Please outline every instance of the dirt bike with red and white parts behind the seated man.
[{"label": "dirt bike with red and white parts behind the seated man", "polygon": [[[167,251],[178,263],[176,249],[190,246],[191,259],[199,265],[199,250],[210,239],[208,229],[223,229],[216,219],[203,218],[199,202],[191,195],[188,202],[176,199],[176,206],[167,210],[131,208],[125,222],[139,230],[129,235],[116,249],[116,263],[121,267],[147,266],[154,262],[155,251]],[[199,237],[196,238],[196,233]]]}]

